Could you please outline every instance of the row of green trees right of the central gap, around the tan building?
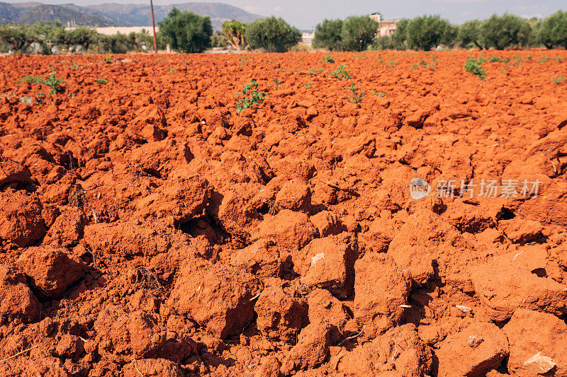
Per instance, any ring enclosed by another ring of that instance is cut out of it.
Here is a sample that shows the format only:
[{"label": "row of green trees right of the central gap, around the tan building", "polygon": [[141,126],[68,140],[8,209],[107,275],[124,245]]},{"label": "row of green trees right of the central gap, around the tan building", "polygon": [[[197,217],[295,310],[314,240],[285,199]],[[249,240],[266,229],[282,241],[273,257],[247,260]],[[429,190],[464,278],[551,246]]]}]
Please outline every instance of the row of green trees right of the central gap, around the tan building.
[{"label": "row of green trees right of the central gap, around the tan building", "polygon": [[488,20],[451,25],[439,16],[403,19],[389,36],[376,35],[378,23],[368,16],[325,20],[315,29],[313,46],[328,50],[431,50],[445,47],[565,47],[567,12],[558,11],[543,20],[526,20],[513,14],[493,15]]}]

